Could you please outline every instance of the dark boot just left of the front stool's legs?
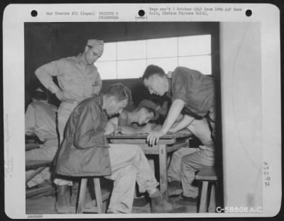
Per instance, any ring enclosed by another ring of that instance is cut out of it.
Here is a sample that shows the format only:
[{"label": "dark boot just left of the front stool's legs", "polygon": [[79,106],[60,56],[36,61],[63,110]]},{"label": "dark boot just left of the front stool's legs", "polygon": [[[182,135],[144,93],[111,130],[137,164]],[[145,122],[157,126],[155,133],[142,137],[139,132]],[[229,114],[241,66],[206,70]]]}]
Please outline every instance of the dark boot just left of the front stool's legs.
[{"label": "dark boot just left of the front stool's legs", "polygon": [[75,213],[75,207],[72,207],[69,203],[69,186],[57,185],[58,198],[55,203],[55,211],[58,213]]}]

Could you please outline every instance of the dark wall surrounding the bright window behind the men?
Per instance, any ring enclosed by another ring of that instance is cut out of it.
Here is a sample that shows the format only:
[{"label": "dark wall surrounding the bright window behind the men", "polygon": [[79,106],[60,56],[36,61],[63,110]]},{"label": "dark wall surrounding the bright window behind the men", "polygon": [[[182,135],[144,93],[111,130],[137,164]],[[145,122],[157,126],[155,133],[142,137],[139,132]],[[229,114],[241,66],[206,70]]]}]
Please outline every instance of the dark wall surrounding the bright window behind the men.
[{"label": "dark wall surrounding the bright window behind the men", "polygon": [[[211,34],[212,75],[219,79],[219,23],[217,22],[37,22],[25,23],[24,31],[26,107],[31,102],[31,93],[40,86],[34,74],[35,70],[45,63],[83,52],[87,40],[92,38],[107,43]],[[100,75],[103,76],[104,73],[100,72]],[[54,80],[56,82],[56,78]],[[132,90],[134,106],[141,99],[150,97],[142,81],[137,78],[103,80],[102,92],[114,82],[122,82]],[[54,95],[50,96],[50,101],[59,104]]]}]

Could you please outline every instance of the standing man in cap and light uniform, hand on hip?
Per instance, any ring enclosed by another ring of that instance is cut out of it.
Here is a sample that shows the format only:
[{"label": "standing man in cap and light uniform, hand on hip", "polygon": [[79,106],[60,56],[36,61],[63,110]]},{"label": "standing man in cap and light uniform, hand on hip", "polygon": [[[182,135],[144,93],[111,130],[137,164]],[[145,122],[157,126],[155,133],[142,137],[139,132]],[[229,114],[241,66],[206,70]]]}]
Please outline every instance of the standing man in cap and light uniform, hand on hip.
[{"label": "standing man in cap and light uniform, hand on hip", "polygon": [[[94,63],[102,56],[103,52],[104,42],[90,39],[87,41],[83,53],[52,61],[35,70],[38,80],[61,101],[58,109],[60,144],[64,138],[65,125],[73,109],[82,100],[99,95],[102,89],[102,80]],[[58,79],[59,87],[53,82],[55,76]],[[72,180],[55,178],[54,183],[58,186],[58,195],[64,195],[67,192],[67,185],[72,185]],[[77,200],[78,185],[79,183],[76,183],[72,186],[71,205],[74,205]],[[67,212],[65,210],[68,208],[68,203],[61,200],[55,209]]]}]

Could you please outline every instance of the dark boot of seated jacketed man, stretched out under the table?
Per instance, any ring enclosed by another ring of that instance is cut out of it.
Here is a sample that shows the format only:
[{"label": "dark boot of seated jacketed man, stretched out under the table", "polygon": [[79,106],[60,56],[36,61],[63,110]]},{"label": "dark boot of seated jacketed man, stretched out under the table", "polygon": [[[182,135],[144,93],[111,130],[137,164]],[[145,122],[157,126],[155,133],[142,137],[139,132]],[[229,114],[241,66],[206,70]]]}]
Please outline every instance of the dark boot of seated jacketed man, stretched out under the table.
[{"label": "dark boot of seated jacketed man, stretched out under the table", "polygon": [[153,194],[149,194],[151,198],[151,212],[160,213],[160,212],[187,212],[187,207],[176,207],[170,201],[165,200],[160,191],[155,191]]}]

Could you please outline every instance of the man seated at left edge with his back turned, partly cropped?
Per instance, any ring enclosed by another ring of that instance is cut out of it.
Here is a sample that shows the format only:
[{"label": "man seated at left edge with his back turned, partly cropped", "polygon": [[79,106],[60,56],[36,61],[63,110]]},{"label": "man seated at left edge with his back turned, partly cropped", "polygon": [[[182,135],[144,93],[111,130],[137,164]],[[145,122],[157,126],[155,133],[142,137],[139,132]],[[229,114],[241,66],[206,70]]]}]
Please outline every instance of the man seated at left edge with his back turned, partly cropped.
[{"label": "man seated at left edge with his back turned, partly cropped", "polygon": [[[53,161],[58,151],[58,134],[56,132],[56,114],[58,108],[48,103],[46,93],[40,88],[32,95],[31,104],[28,105],[25,114],[25,134],[37,136],[43,144],[39,149],[26,151],[26,161]],[[27,171],[26,173],[30,173]],[[50,168],[46,168],[33,179],[28,181],[28,187],[43,185],[45,181],[50,183]]]}]

